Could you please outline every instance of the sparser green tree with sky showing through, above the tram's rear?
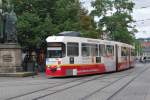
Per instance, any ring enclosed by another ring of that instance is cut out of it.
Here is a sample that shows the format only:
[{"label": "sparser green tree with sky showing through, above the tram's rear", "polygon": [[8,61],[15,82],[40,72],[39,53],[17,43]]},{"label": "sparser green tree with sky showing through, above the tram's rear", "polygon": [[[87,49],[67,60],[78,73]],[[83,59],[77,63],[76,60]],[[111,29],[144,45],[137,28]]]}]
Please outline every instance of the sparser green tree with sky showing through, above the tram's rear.
[{"label": "sparser green tree with sky showing through, above the tram's rear", "polygon": [[[92,4],[95,10],[91,15],[100,18],[98,29],[101,33],[107,34],[111,40],[130,44],[133,42],[136,29],[130,25],[133,22],[131,12],[134,3],[132,1],[96,0]],[[108,15],[108,12],[112,12],[111,15]]]}]

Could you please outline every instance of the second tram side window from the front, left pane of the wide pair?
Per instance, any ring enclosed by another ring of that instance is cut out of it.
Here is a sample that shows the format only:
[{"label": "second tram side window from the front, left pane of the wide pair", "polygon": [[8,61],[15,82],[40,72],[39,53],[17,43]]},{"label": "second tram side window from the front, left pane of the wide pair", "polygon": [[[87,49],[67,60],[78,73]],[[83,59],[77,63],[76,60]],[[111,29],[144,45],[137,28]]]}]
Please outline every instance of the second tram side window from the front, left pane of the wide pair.
[{"label": "second tram side window from the front, left pane of the wide pair", "polygon": [[90,45],[82,43],[82,56],[90,56]]}]

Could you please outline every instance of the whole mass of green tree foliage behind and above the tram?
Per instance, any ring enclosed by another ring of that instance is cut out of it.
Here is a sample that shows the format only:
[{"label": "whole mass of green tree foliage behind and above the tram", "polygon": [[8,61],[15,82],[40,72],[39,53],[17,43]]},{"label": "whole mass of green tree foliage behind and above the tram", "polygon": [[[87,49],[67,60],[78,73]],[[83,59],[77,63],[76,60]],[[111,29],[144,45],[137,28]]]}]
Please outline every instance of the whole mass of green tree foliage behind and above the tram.
[{"label": "whole mass of green tree foliage behind and above the tram", "polygon": [[[90,15],[79,0],[12,0],[12,3],[18,15],[18,40],[23,47],[40,47],[47,36],[62,31],[79,31],[90,38],[100,38],[105,33],[112,40],[131,43],[136,31],[129,25],[134,6],[130,0],[95,0]],[[94,16],[100,18],[98,23]]]}]

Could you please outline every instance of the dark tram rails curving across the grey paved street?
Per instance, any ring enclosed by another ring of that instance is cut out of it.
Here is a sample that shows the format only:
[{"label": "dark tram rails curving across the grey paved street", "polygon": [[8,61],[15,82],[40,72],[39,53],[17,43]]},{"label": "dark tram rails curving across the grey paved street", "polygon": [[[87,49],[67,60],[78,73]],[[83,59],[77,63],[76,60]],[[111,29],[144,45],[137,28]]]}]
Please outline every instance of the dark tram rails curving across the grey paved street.
[{"label": "dark tram rails curving across the grey paved street", "polygon": [[[144,69],[144,70],[142,70],[142,71],[140,70],[128,83],[126,83],[117,92],[115,92],[112,96],[110,96],[110,98],[115,96],[119,91],[121,91],[123,88],[125,88],[128,84],[130,84],[132,81],[134,81],[135,78],[140,76],[143,72],[145,72],[148,69],[149,69],[149,67]],[[18,96],[10,97],[10,98],[7,98],[6,100],[13,100],[13,99],[21,98],[21,97],[24,97],[24,96],[33,95],[34,93],[46,91],[46,90],[49,90],[49,89],[51,90],[51,89],[54,89],[56,87],[65,86],[65,88],[54,90],[51,93],[46,93],[46,94],[44,94],[42,96],[33,97],[33,99],[32,99],[32,100],[39,100],[39,99],[42,99],[44,97],[51,96],[53,94],[57,94],[57,93],[69,90],[71,88],[74,88],[74,87],[86,84],[86,83],[94,81],[94,80],[104,80],[104,79],[109,79],[109,78],[118,78],[118,79],[113,80],[109,84],[106,84],[104,87],[102,87],[102,88],[100,88],[100,89],[98,89],[96,91],[93,91],[92,93],[90,93],[90,94],[84,96],[83,98],[81,98],[81,100],[86,100],[87,98],[91,97],[95,93],[100,92],[103,89],[105,89],[105,88],[107,88],[107,87],[117,83],[119,80],[124,79],[127,76],[130,76],[131,74],[135,73],[135,71],[133,71],[133,70],[136,70],[136,69],[127,70],[128,72],[123,71],[123,72],[117,72],[117,73],[111,73],[111,74],[102,74],[101,76],[100,75],[98,75],[98,76],[96,75],[94,77],[90,77],[90,79],[89,79],[89,77],[81,77],[81,78],[74,79],[74,80],[71,80],[71,81],[65,81],[63,83],[60,83],[60,84],[57,84],[57,85],[54,85],[54,86],[50,86],[50,87],[42,88],[42,89],[35,90],[35,91],[32,91],[32,92],[24,93],[24,94],[21,94],[21,95],[18,95]],[[110,75],[112,75],[112,74],[115,74],[116,76],[110,77]],[[72,84],[74,82],[77,82],[77,83],[75,85],[67,86],[68,84],[70,84],[70,83]],[[108,99],[108,100],[110,100],[110,99]]]}]

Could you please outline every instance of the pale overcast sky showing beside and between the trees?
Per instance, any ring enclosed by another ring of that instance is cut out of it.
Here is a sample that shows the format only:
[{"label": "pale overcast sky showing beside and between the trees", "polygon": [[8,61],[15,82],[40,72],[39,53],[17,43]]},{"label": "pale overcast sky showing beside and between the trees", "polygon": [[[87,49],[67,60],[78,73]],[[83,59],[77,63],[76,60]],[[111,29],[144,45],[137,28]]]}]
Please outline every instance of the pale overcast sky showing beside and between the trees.
[{"label": "pale overcast sky showing beside and between the trees", "polygon": [[[93,0],[81,0],[83,6],[91,11],[93,8],[90,2]],[[150,38],[150,0],[132,0],[135,3],[132,13],[133,19],[136,21],[135,33],[136,38]]]}]

